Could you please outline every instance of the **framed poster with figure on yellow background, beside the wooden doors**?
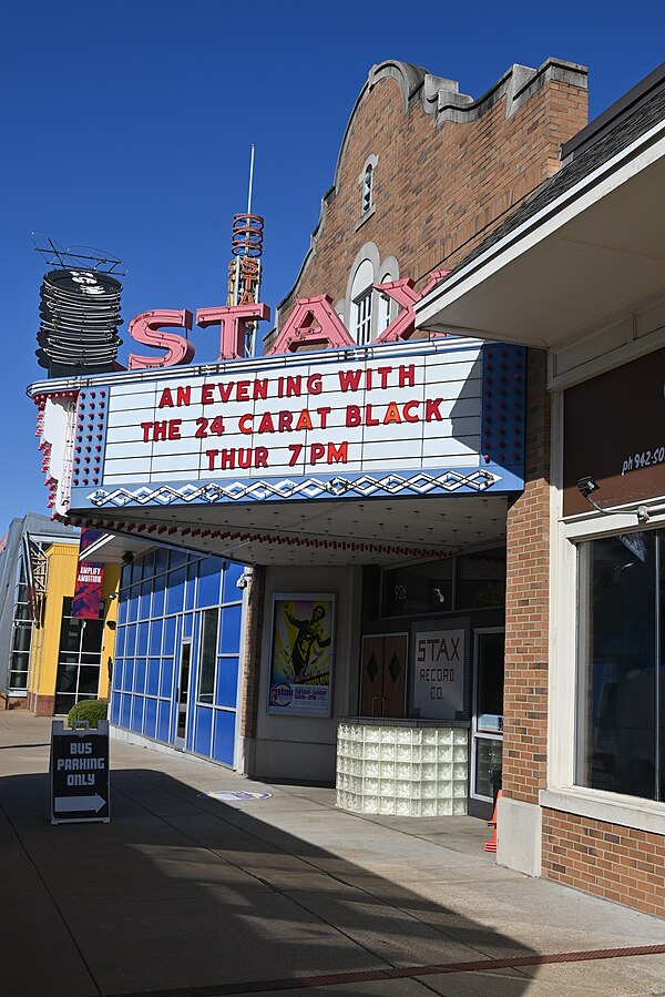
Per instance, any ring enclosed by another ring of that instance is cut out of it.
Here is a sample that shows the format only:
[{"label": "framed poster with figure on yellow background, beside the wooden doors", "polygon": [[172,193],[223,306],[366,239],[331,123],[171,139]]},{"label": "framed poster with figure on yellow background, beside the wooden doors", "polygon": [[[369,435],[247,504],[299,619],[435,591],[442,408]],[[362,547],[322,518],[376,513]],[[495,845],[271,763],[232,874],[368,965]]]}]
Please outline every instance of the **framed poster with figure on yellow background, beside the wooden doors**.
[{"label": "framed poster with figure on yellow background, beside the wooden doors", "polygon": [[329,716],[335,596],[273,597],[268,713]]}]

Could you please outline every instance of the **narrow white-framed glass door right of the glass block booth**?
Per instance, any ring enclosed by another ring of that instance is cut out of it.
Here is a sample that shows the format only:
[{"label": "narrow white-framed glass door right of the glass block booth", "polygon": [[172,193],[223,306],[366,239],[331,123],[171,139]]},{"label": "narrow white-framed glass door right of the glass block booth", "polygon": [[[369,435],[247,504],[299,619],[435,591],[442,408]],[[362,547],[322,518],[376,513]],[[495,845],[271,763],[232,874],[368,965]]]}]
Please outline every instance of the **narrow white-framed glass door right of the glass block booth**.
[{"label": "narrow white-framed glass door right of the glass block booth", "polygon": [[473,722],[471,726],[471,797],[493,802],[503,756],[503,653],[505,631],[474,632]]}]

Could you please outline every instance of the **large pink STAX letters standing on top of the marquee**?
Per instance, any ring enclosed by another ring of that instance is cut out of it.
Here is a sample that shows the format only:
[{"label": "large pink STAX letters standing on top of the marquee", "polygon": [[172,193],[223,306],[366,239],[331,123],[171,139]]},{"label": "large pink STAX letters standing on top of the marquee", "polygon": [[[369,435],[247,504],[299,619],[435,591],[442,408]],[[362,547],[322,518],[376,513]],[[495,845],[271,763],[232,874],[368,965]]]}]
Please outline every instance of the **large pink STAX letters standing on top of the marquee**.
[{"label": "large pink STAX letters standing on top of the marquee", "polygon": [[[413,291],[413,281],[392,281],[389,284],[375,284],[376,289],[392,298],[402,306],[397,318],[377,337],[377,343],[396,343],[409,339],[416,327],[413,306],[437,284],[448,271],[431,274],[427,287],[421,292]],[[207,328],[219,326],[219,360],[237,359],[245,355],[245,337],[247,325],[256,322],[268,322],[270,309],[259,303],[227,305],[196,311],[196,325]],[[186,309],[157,308],[142,312],[130,323],[130,335],[136,343],[156,349],[166,350],[161,356],[140,356],[130,354],[130,370],[154,367],[174,367],[190,364],[194,359],[194,345],[185,336],[166,333],[166,328],[191,329],[194,324],[192,312]],[[301,345],[309,349],[329,347],[355,347],[347,328],[332,308],[332,299],[328,295],[300,298],[285,325],[279,329],[267,353],[295,353]]]}]

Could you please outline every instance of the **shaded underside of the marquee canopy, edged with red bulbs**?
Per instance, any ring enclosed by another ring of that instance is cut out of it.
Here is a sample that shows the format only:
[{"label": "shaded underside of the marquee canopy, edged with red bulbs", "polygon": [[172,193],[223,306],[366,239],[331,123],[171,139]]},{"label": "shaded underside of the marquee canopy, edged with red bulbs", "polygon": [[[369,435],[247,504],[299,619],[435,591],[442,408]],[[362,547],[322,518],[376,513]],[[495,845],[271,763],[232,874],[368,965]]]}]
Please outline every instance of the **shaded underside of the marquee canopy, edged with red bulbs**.
[{"label": "shaded underside of the marquee canopy, edged with red bulbs", "polygon": [[86,557],[120,561],[146,542],[229,557],[247,564],[389,564],[501,543],[507,497],[279,502],[86,512],[72,522],[117,536]]}]

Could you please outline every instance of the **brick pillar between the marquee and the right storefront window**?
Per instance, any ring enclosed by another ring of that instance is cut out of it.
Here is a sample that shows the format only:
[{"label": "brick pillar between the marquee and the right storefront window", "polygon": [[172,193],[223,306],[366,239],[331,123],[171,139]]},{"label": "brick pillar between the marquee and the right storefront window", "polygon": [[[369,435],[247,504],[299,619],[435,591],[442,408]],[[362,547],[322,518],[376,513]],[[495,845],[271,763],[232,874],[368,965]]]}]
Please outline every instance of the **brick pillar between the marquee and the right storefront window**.
[{"label": "brick pillar between the marquee and the right storefront window", "polygon": [[525,487],[508,513],[503,793],[538,804],[546,786],[550,426],[543,350],[526,355]]}]

